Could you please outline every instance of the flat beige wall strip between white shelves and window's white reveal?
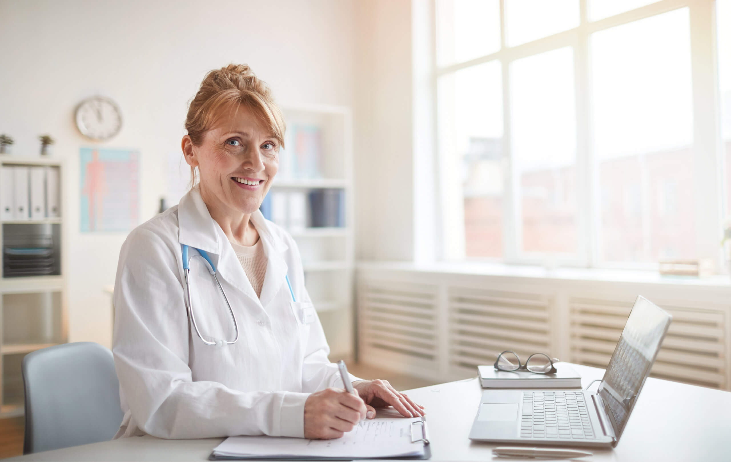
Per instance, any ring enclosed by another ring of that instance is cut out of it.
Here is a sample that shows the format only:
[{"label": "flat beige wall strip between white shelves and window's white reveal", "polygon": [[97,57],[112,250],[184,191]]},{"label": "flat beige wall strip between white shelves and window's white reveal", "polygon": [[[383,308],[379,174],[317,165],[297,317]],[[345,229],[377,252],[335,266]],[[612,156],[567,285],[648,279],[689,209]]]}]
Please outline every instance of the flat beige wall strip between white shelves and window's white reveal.
[{"label": "flat beige wall strip between white shelves and window's white reveal", "polygon": [[357,17],[356,257],[412,260],[412,1],[360,1]]}]

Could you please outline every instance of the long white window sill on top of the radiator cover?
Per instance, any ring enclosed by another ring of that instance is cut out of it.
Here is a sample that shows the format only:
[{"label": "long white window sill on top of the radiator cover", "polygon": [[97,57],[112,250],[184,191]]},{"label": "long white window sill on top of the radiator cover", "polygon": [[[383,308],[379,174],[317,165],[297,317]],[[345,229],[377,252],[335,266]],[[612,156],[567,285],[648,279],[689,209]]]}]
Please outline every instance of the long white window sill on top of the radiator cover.
[{"label": "long white window sill on top of the radiator cover", "polygon": [[727,275],[697,278],[692,276],[661,276],[657,271],[613,270],[603,268],[556,268],[548,270],[537,265],[508,265],[488,262],[366,262],[357,263],[358,270],[401,270],[424,273],[444,273],[470,276],[499,276],[506,278],[542,279],[545,281],[603,281],[638,284],[667,284],[675,286],[731,287]]}]

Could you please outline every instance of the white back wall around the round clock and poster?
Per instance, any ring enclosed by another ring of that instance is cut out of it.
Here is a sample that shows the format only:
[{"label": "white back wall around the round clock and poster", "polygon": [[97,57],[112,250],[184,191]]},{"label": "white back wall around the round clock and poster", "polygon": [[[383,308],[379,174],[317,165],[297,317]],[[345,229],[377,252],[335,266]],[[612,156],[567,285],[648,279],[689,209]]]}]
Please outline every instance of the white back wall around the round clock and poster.
[{"label": "white back wall around the round clock and poster", "polygon": [[[102,287],[114,281],[126,237],[80,233],[79,148],[139,148],[141,216],[154,216],[167,186],[161,174],[166,154],[180,149],[186,104],[205,72],[248,63],[281,105],[352,106],[356,11],[350,0],[0,0],[0,133],[15,138],[13,153],[19,155],[36,155],[37,135],[50,133],[56,138],[54,155],[67,160],[70,341],[110,345],[110,298]],[[387,48],[387,39],[379,48]],[[390,64],[398,63],[383,65]],[[380,77],[381,89],[390,77]],[[392,99],[406,104],[399,100],[400,85],[379,97],[379,111],[387,112]],[[124,117],[121,133],[106,143],[86,140],[72,118],[77,103],[94,94],[114,99]],[[389,122],[376,126],[387,132],[378,148],[399,146],[401,132],[408,130],[403,119],[393,127]],[[391,175],[409,159],[406,152],[401,159],[408,133],[403,140],[403,147],[381,154],[395,157],[385,168]],[[388,199],[384,193],[377,198]],[[391,208],[392,217],[398,206]],[[359,218],[359,224],[366,221]]]}]

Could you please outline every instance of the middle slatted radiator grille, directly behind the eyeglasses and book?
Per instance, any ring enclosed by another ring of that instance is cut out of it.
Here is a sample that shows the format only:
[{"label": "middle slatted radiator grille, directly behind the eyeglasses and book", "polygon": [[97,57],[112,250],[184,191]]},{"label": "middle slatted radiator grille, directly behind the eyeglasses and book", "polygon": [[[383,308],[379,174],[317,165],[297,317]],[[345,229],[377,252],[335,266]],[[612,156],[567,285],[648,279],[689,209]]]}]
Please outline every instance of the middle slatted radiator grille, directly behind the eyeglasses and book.
[{"label": "middle slatted radiator grille, directly behind the eyeglasses and book", "polygon": [[550,352],[548,300],[539,295],[448,288],[450,373],[473,376],[479,365],[512,349],[525,360]]}]

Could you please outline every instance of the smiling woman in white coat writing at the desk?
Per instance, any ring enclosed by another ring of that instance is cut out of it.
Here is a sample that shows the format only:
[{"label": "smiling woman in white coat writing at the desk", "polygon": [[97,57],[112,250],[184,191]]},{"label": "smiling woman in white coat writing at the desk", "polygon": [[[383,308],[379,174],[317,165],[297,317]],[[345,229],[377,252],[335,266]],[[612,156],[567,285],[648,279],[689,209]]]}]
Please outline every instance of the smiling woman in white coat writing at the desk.
[{"label": "smiling woman in white coat writing at the desk", "polygon": [[277,173],[284,121],[246,65],[206,75],[182,148],[200,182],[133,230],[114,291],[117,436],[338,438],[374,406],[423,406],[385,380],[342,390],[305,289],[295,241],[259,207]]}]

